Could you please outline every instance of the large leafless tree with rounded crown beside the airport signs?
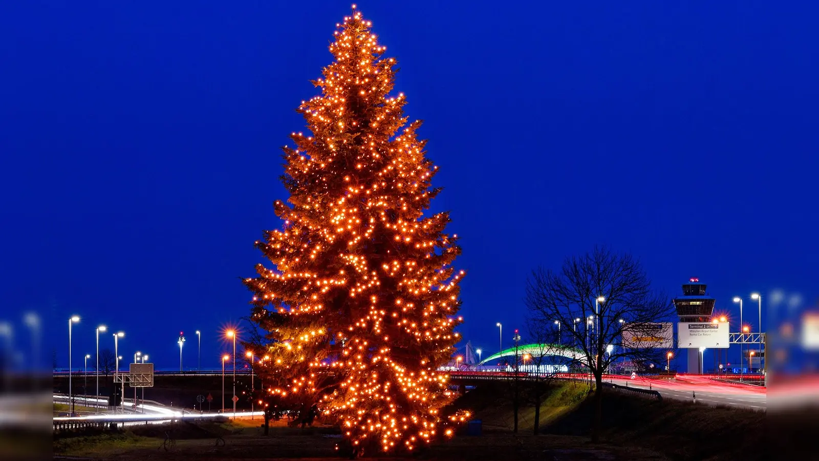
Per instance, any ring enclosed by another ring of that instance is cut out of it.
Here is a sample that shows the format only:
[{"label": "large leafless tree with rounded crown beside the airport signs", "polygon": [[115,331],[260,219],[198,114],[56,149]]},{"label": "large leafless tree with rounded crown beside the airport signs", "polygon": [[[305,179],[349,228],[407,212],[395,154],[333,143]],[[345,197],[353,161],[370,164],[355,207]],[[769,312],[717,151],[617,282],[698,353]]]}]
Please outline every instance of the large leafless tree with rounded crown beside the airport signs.
[{"label": "large leafless tree with rounded crown beside the airport signs", "polygon": [[670,317],[670,299],[651,290],[639,260],[628,253],[595,247],[591,253],[566,258],[559,272],[543,268],[532,271],[526,304],[534,322],[574,325],[578,318],[583,319],[583,328],[566,328],[563,335],[572,337],[595,377],[591,436],[593,441],[600,440],[603,374],[609,364],[621,358],[659,361],[662,354],[662,349],[655,349],[659,343],[623,343],[622,333],[645,329]]}]

